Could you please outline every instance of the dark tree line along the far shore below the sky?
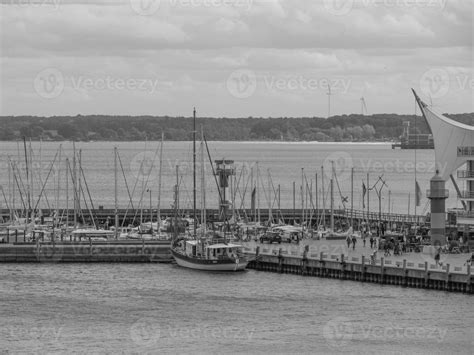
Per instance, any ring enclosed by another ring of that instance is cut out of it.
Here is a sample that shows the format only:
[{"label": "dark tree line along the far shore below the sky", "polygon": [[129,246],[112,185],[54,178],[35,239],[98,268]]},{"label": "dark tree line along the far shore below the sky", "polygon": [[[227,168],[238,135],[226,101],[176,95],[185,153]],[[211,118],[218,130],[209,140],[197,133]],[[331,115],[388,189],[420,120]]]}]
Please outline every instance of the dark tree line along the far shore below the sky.
[{"label": "dark tree line along the far shore below the sky", "polygon": [[[448,115],[459,122],[474,125],[474,113]],[[411,133],[430,133],[423,117],[415,115],[376,114],[341,115],[330,118],[197,118],[206,139],[220,141],[322,141],[363,142],[396,141],[403,132],[403,122],[410,122]],[[0,140],[76,140],[139,141],[192,139],[192,117],[169,116],[2,116]]]}]

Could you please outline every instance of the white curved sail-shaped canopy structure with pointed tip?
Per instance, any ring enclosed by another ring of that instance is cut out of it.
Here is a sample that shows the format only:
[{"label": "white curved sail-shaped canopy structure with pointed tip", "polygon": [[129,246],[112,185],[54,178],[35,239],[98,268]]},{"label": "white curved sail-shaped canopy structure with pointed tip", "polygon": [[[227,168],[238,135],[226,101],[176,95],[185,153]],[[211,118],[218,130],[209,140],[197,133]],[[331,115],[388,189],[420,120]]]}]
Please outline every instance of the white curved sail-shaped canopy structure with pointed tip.
[{"label": "white curved sail-shaped canopy structure with pointed tip", "polygon": [[454,121],[415,98],[434,138],[436,169],[443,180],[474,157],[474,126]]}]

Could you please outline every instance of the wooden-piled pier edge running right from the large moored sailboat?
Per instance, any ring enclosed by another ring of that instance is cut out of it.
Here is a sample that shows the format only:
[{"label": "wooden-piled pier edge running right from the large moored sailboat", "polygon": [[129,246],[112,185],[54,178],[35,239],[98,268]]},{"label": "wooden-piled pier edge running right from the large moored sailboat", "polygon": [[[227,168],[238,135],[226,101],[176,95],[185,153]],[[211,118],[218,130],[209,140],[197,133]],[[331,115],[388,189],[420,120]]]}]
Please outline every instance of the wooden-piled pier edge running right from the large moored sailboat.
[{"label": "wooden-piled pier edge running right from the large moored sailboat", "polygon": [[451,268],[447,264],[438,267],[426,261],[414,263],[403,260],[393,263],[385,261],[383,257],[374,260],[364,256],[348,258],[344,254],[330,255],[324,252],[310,254],[307,247],[303,253],[288,252],[282,248],[276,252],[263,245],[246,247],[245,251],[252,259],[248,268],[260,271],[474,293],[474,276],[470,265],[463,272],[459,266]]}]

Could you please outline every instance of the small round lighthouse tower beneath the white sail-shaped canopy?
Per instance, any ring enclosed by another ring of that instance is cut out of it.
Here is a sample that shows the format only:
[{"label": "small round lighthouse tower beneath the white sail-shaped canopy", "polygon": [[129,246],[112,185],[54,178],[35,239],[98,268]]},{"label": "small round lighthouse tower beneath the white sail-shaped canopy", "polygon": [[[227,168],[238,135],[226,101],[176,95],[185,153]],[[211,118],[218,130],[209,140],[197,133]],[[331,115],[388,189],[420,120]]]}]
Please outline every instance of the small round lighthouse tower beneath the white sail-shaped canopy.
[{"label": "small round lighthouse tower beneath the white sail-shaped canopy", "polygon": [[446,199],[449,191],[438,170],[430,180],[426,196],[431,200],[431,245],[441,246],[446,244]]}]

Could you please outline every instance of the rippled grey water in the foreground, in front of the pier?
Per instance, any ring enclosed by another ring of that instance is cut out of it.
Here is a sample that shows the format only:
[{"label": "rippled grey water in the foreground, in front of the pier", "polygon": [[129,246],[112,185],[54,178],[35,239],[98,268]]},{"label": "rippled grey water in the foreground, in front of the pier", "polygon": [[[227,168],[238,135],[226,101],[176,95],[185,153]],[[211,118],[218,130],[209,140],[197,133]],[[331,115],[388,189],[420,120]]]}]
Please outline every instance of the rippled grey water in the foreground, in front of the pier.
[{"label": "rippled grey water in the foreground, in front of the pier", "polygon": [[0,265],[0,353],[472,354],[472,296],[175,265]]}]

